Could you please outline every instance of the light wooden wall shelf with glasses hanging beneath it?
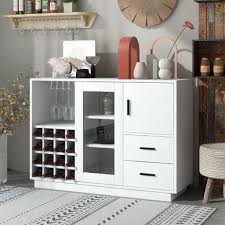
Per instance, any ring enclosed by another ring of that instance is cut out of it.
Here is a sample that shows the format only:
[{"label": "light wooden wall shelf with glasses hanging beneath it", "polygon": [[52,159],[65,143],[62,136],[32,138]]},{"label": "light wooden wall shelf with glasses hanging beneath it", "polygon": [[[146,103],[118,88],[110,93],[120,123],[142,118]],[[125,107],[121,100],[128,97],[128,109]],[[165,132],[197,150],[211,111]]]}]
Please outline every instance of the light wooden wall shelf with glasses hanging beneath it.
[{"label": "light wooden wall shelf with glasses hanging beneath it", "polygon": [[40,13],[3,16],[13,30],[62,30],[91,28],[95,12]]}]

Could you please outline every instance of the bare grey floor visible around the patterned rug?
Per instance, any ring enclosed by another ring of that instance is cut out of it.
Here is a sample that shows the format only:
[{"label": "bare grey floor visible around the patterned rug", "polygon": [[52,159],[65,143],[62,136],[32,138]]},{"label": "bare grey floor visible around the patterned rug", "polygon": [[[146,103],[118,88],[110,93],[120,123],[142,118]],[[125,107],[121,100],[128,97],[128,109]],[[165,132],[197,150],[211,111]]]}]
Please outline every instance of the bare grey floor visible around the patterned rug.
[{"label": "bare grey floor visible around the patterned rug", "polygon": [[[33,181],[29,180],[28,174],[8,171],[7,185],[20,187],[33,187]],[[222,193],[221,193],[222,196]],[[198,189],[187,190],[175,202],[180,204],[199,205],[202,206],[203,193]],[[206,206],[217,208],[216,213],[205,223],[205,225],[225,225],[225,200],[220,196],[213,198]]]}]

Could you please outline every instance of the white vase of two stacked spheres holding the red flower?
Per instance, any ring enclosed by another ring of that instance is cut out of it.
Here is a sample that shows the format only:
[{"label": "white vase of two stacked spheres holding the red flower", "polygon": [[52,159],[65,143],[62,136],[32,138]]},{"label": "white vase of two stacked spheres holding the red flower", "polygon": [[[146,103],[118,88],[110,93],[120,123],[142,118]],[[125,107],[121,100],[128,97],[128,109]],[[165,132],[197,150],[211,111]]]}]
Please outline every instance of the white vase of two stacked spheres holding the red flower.
[{"label": "white vase of two stacked spheres holding the red flower", "polygon": [[170,59],[163,58],[159,60],[159,78],[171,79],[173,76],[173,62]]}]

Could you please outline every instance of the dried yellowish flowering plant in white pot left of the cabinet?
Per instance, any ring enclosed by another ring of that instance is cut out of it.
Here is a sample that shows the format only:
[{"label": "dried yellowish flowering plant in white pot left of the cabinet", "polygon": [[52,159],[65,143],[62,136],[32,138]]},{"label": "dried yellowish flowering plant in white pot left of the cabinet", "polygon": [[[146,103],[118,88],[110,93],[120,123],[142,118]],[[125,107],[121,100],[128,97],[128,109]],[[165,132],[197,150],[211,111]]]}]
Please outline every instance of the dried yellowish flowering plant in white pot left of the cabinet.
[{"label": "dried yellowish flowering plant in white pot left of the cabinet", "polygon": [[[26,79],[34,77],[29,75]],[[7,136],[29,116],[29,93],[22,74],[0,87],[0,184],[7,181]]]}]

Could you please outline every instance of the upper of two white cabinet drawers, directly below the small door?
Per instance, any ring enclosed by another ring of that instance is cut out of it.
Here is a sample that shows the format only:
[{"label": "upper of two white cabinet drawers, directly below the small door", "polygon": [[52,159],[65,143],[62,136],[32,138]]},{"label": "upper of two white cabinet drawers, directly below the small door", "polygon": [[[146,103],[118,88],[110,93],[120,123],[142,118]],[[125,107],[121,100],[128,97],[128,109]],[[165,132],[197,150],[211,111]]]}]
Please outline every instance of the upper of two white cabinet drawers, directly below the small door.
[{"label": "upper of two white cabinet drawers, directly below the small door", "polygon": [[125,160],[174,163],[173,157],[173,138],[124,136]]}]

